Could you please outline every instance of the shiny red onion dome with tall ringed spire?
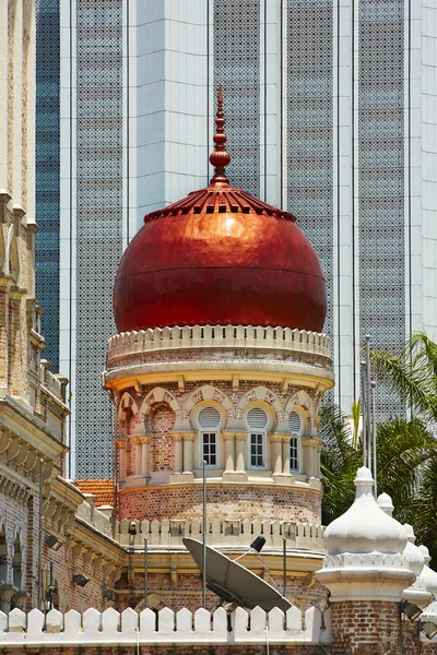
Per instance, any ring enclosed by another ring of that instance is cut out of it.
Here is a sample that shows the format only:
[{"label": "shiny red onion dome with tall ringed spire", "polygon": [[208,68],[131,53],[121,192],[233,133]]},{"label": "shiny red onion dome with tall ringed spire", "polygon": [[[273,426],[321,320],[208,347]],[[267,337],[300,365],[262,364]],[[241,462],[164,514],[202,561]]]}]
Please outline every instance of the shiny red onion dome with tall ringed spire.
[{"label": "shiny red onion dome with tall ringed spire", "polygon": [[327,290],[295,216],[229,186],[218,92],[210,186],[152,212],[117,271],[119,332],[174,325],[272,325],[321,332]]}]

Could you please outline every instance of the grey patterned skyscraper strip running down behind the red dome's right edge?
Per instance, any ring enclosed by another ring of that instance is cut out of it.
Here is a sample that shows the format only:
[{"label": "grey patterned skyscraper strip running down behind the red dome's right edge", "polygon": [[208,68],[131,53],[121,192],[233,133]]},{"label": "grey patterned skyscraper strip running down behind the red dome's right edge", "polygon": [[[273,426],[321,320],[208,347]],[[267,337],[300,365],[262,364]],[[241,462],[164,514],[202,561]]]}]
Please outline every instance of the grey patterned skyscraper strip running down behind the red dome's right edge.
[{"label": "grey patterned skyscraper strip running down behind the red dome's right edge", "polygon": [[317,250],[332,334],[332,0],[287,4],[287,206]]}]

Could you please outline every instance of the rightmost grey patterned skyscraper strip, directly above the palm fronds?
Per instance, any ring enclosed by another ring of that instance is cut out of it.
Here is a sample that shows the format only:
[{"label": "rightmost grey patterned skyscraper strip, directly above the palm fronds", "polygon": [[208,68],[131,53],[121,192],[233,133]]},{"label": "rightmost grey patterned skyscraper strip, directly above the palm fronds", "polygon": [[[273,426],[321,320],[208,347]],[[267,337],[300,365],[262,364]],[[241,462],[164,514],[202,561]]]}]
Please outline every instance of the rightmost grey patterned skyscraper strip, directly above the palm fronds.
[{"label": "rightmost grey patterned skyscraper strip, directly above the palm fronds", "polygon": [[[404,2],[361,0],[358,13],[361,338],[397,353],[405,337]],[[378,385],[377,410],[383,419],[403,407]]]}]

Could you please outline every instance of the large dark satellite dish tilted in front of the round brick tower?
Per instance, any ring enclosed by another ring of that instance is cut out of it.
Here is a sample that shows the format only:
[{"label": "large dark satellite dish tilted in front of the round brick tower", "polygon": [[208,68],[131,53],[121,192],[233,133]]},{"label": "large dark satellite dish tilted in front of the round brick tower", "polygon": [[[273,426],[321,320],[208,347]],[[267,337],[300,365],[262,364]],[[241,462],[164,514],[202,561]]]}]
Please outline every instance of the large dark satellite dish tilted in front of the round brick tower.
[{"label": "large dark satellite dish tilted in front of the round brick tower", "polygon": [[[182,541],[202,571],[203,544],[190,538],[184,538]],[[273,607],[279,607],[285,612],[292,607],[284,596],[261,577],[209,546],[206,546],[206,586],[222,600],[236,603],[247,609],[258,606],[264,611],[270,611]]]}]

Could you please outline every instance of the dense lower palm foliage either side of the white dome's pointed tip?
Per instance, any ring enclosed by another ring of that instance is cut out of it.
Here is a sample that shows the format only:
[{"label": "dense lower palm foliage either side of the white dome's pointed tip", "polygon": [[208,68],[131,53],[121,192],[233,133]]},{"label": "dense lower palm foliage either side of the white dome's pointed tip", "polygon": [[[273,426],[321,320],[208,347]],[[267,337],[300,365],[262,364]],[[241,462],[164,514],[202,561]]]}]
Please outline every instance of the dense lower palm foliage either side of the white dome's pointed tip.
[{"label": "dense lower palm foliage either side of the white dome's pointed tip", "polygon": [[[322,408],[320,431],[322,521],[327,525],[353,502],[363,451],[359,438],[354,444],[335,405]],[[377,483],[379,493],[391,496],[394,516],[413,525],[418,543],[426,544],[437,563],[437,441],[424,421],[397,418],[377,426]]]}]

